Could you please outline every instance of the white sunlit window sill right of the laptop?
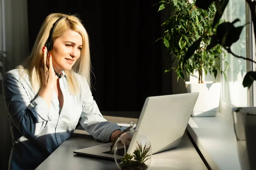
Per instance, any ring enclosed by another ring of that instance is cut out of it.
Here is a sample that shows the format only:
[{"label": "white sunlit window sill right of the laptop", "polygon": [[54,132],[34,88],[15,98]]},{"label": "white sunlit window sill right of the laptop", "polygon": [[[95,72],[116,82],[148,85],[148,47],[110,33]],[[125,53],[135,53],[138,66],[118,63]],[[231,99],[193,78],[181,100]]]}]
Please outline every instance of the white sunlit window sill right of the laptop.
[{"label": "white sunlit window sill right of the laptop", "polygon": [[212,170],[241,170],[231,109],[216,117],[190,117],[187,130]]}]

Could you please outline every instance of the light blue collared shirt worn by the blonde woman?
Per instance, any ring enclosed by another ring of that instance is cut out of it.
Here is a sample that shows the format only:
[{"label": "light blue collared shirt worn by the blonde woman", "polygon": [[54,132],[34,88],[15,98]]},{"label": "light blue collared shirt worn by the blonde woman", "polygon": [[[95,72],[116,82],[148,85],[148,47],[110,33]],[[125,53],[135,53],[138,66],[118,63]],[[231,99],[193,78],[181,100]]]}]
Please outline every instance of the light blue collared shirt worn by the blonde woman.
[{"label": "light blue collared shirt worn by the blonde woman", "polygon": [[3,96],[13,139],[9,169],[35,169],[70,137],[78,123],[102,142],[109,142],[111,133],[120,129],[116,123],[103,118],[88,84],[79,74],[75,75],[81,92],[73,96],[68,91],[64,71],[62,73],[59,80],[64,98],[62,109],[55,91],[48,108],[45,100],[32,90],[27,74],[20,77],[14,69],[3,76]]}]

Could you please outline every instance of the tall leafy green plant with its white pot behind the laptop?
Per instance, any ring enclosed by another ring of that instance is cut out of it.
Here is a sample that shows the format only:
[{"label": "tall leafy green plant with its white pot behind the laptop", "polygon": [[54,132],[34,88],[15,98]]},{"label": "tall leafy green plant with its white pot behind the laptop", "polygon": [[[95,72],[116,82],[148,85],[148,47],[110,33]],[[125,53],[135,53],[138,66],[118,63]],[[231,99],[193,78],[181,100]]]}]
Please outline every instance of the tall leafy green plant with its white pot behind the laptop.
[{"label": "tall leafy green plant with its white pot behind the laptop", "polygon": [[[175,67],[170,67],[165,72],[175,70],[178,79],[184,79],[184,73],[187,77],[198,74],[198,82],[185,82],[188,92],[199,92],[192,116],[216,116],[221,84],[218,81],[204,81],[204,75],[207,74],[213,74],[215,79],[218,72],[225,75],[220,65],[221,45],[206,50],[210,44],[209,37],[216,33],[216,29],[212,28],[216,8],[214,5],[210,5],[208,9],[198,8],[194,0],[162,0],[160,3],[159,11],[167,5],[172,10],[172,16],[162,24],[165,31],[160,39],[168,48],[168,53],[173,54],[171,63]],[[193,57],[184,60],[195,41],[200,47],[192,54]]]}]

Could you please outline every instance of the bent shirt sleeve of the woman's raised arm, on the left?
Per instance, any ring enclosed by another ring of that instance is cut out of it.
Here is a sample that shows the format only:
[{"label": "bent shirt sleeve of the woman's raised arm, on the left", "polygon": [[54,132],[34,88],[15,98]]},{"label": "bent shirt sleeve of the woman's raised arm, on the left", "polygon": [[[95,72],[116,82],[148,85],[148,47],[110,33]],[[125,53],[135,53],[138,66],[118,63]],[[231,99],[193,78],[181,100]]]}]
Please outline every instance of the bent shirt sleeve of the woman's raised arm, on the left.
[{"label": "bent shirt sleeve of the woman's raised arm, on the left", "polygon": [[41,96],[29,99],[19,77],[12,72],[3,76],[3,96],[11,121],[27,139],[33,139],[44,129],[49,108]]}]

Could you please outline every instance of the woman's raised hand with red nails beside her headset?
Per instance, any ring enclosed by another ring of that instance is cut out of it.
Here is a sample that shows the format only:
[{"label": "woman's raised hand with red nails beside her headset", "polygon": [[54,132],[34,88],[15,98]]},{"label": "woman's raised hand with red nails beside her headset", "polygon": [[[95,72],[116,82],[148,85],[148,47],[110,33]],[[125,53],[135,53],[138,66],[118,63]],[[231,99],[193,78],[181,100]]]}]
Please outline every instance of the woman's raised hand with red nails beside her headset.
[{"label": "woman's raised hand with red nails beside her headset", "polygon": [[49,108],[51,105],[52,93],[55,88],[57,79],[55,78],[55,72],[52,67],[52,56],[49,55],[49,57],[47,57],[47,49],[45,46],[43,48],[40,72],[42,77],[42,87],[38,96],[44,98]]}]

